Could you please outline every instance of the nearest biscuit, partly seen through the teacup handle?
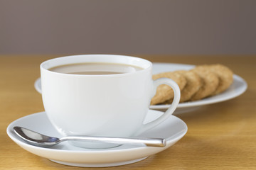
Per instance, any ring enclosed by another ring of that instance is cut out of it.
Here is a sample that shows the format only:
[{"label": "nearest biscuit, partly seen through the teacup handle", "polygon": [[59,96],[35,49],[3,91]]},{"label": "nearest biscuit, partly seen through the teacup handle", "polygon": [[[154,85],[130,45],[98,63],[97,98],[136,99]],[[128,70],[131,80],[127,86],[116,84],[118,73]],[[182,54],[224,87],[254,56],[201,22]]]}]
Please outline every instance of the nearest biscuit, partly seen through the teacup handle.
[{"label": "nearest biscuit, partly seen through the teacup handle", "polygon": [[[175,81],[181,90],[186,85],[185,77],[178,72],[164,72],[160,74],[154,74],[152,78],[155,80],[162,77],[166,77]],[[156,89],[156,95],[151,99],[151,105],[163,103],[164,101],[170,100],[172,98],[174,98],[174,91],[171,89],[171,87],[165,84],[161,84]]]}]

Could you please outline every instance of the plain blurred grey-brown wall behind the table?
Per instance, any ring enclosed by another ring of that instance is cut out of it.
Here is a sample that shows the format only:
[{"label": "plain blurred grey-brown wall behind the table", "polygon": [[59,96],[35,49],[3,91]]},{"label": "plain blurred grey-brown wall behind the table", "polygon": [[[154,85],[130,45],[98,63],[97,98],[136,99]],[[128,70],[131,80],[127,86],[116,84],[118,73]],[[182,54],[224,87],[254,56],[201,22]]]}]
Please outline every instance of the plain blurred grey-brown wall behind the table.
[{"label": "plain blurred grey-brown wall behind the table", "polygon": [[0,54],[256,54],[256,1],[0,0]]}]

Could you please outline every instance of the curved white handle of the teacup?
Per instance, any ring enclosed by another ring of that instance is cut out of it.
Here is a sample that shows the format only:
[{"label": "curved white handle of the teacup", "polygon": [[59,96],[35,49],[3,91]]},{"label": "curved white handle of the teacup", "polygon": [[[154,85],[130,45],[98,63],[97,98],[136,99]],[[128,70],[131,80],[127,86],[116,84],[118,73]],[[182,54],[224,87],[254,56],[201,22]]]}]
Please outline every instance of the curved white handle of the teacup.
[{"label": "curved white handle of the teacup", "polygon": [[175,81],[173,81],[171,79],[167,79],[167,78],[156,79],[156,80],[154,80],[154,94],[156,92],[156,88],[161,84],[166,84],[168,86],[171,86],[171,89],[174,90],[174,100],[171,103],[171,106],[167,109],[167,111],[163,115],[161,115],[156,120],[151,121],[150,123],[146,123],[146,124],[142,125],[142,128],[140,128],[137,131],[137,133],[136,133],[137,135],[141,134],[142,132],[145,132],[146,130],[149,130],[150,128],[153,128],[156,125],[159,125],[159,123],[163,122],[164,120],[166,120],[166,118],[168,118],[170,115],[172,115],[172,113],[174,113],[175,109],[178,106],[178,103],[181,98],[181,91],[178,87],[178,84],[176,84]]}]

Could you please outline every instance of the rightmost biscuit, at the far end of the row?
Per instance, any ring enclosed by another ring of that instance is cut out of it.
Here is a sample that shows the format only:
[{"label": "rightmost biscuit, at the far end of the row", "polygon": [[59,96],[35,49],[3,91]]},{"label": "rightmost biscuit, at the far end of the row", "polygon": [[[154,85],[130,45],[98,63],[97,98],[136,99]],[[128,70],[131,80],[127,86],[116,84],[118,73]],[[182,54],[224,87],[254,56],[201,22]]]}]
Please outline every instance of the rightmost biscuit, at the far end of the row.
[{"label": "rightmost biscuit, at the far end of the row", "polygon": [[233,72],[222,64],[201,65],[197,68],[209,69],[210,72],[217,74],[220,82],[212,95],[220,94],[233,83]]}]

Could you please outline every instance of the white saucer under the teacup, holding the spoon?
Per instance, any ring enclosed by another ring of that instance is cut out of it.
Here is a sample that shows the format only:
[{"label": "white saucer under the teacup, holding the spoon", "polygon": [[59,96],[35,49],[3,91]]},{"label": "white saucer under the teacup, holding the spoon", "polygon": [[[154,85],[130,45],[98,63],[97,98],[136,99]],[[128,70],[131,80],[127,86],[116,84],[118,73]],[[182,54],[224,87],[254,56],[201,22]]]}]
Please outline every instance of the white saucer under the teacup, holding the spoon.
[{"label": "white saucer under the teacup, holding the spoon", "polygon": [[[163,114],[160,111],[149,110],[146,116],[145,123],[148,123]],[[65,164],[70,166],[84,166],[84,167],[104,167],[104,166],[119,166],[124,164],[132,164],[139,162],[152,154],[171,147],[178,140],[183,137],[188,128],[186,123],[181,119],[171,115],[160,125],[155,128],[144,132],[140,137],[161,137],[165,138],[166,147],[144,147],[144,146],[128,146],[122,145],[110,149],[85,149],[80,147],[74,147],[69,142],[62,142],[59,145],[55,145],[50,148],[35,147],[28,145],[21,140],[13,131],[14,126],[22,126],[31,130],[41,132],[45,135],[51,135],[55,137],[61,137],[61,135],[50,124],[46,113],[34,113],[27,115],[23,118],[19,118],[11,123],[7,128],[7,134],[23,149],[28,152],[36,154],[40,157],[45,157],[53,162],[59,164]]]}]

